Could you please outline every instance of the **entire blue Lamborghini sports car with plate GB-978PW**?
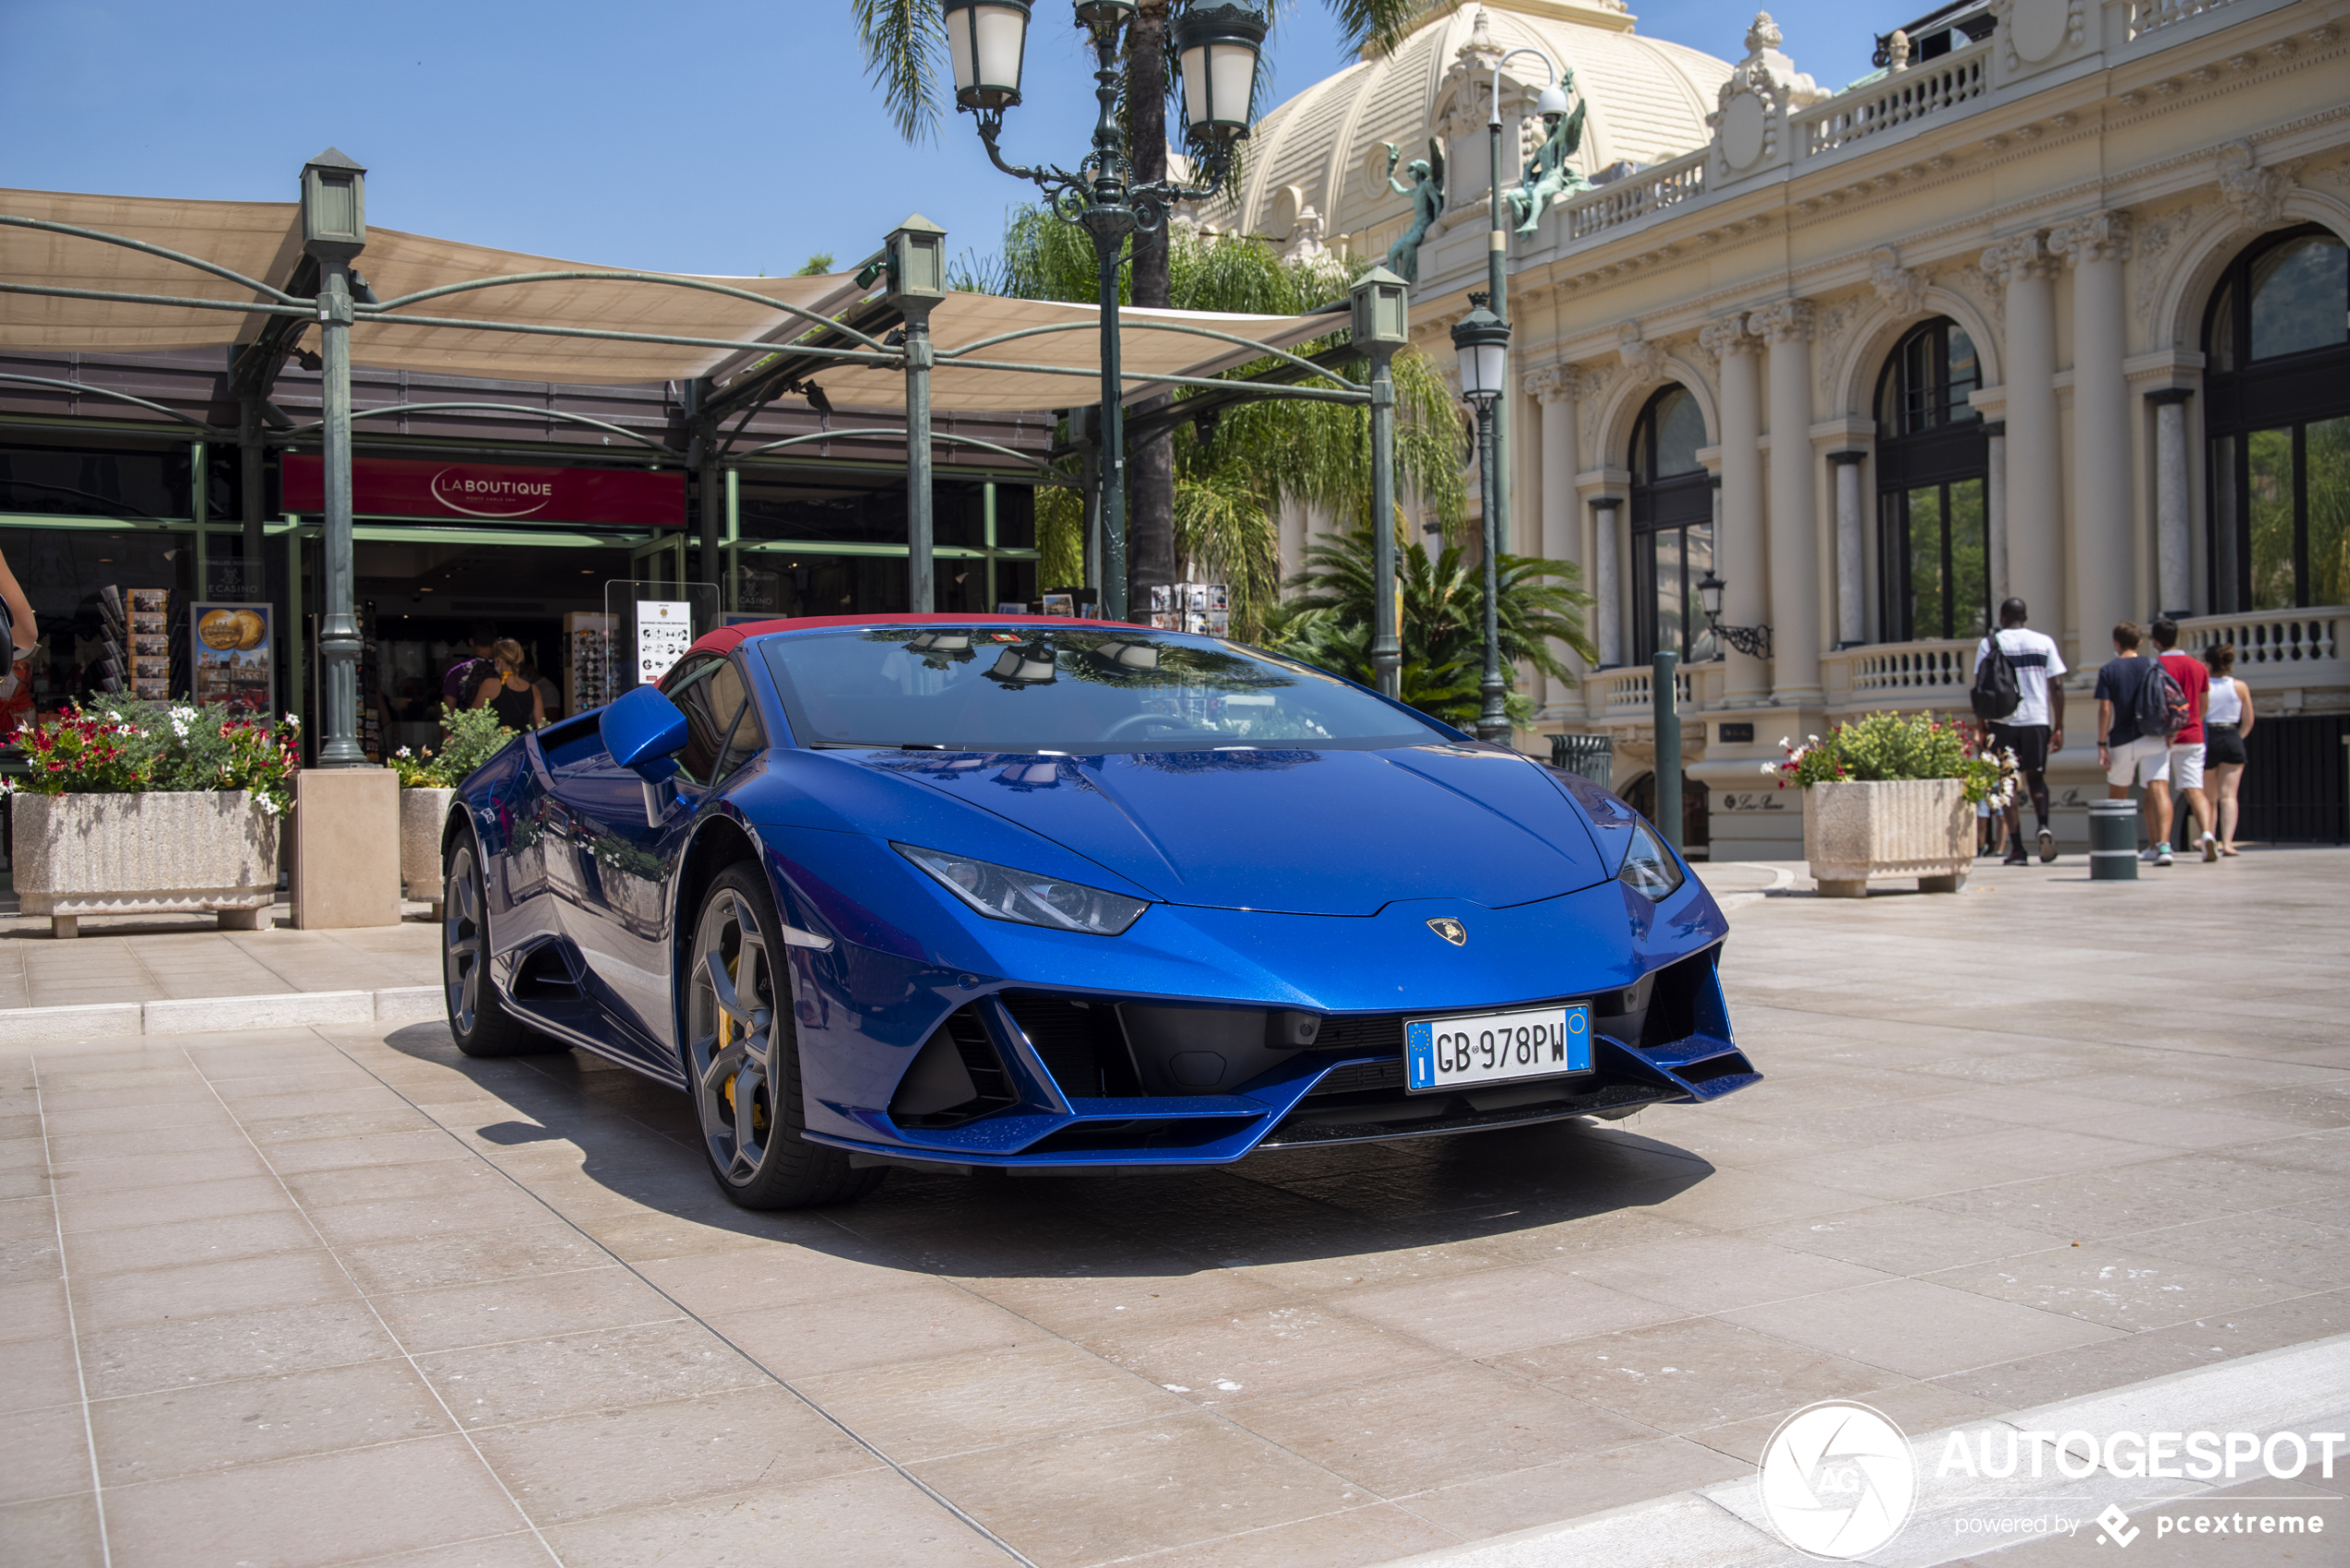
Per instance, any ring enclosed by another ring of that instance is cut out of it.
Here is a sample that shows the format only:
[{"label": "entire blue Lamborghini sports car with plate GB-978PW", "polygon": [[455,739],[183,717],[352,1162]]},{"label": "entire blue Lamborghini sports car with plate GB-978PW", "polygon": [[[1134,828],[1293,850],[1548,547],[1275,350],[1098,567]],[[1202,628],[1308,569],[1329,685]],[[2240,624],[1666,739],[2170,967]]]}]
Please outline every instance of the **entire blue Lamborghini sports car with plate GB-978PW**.
[{"label": "entire blue Lamborghini sports car with plate GB-978PW", "polygon": [[750,1208],[1210,1166],[1755,1081],[1614,795],[1321,670],[1069,618],[768,621],[508,745],[449,1027],[693,1095]]}]

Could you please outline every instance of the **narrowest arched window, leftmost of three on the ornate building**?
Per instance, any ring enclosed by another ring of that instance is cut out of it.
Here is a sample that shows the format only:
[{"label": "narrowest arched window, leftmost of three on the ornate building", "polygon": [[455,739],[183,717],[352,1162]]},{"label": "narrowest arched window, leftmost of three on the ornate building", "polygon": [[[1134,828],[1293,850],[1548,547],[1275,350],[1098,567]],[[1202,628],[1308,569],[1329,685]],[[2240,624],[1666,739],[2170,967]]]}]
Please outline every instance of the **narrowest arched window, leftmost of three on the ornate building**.
[{"label": "narrowest arched window, leftmost of three on the ornate building", "polygon": [[1706,416],[1687,388],[1647,400],[1631,428],[1633,658],[1657,649],[1683,663],[1713,658],[1713,625],[1697,583],[1713,569],[1713,475],[1697,461]]}]

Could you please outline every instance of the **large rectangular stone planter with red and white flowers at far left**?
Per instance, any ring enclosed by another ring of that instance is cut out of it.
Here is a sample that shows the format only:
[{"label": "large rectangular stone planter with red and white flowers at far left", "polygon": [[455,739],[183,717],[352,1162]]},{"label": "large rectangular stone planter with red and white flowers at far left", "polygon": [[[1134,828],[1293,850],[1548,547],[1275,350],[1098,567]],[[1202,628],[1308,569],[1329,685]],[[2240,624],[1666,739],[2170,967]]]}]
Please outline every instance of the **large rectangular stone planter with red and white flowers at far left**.
[{"label": "large rectangular stone planter with red and white flowers at far left", "polygon": [[82,914],[216,912],[268,931],[277,825],[294,804],[294,717],[110,698],[16,733],[16,898],[49,936]]}]

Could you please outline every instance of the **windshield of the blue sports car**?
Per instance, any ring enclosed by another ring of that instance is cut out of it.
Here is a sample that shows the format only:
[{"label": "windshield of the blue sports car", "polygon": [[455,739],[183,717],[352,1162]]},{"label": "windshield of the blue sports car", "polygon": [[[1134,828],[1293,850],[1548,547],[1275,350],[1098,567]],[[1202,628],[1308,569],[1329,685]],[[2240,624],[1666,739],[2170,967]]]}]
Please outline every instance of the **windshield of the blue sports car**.
[{"label": "windshield of the blue sports car", "polygon": [[815,748],[1166,752],[1424,745],[1434,724],[1283,658],[1142,628],[895,625],[764,639]]}]

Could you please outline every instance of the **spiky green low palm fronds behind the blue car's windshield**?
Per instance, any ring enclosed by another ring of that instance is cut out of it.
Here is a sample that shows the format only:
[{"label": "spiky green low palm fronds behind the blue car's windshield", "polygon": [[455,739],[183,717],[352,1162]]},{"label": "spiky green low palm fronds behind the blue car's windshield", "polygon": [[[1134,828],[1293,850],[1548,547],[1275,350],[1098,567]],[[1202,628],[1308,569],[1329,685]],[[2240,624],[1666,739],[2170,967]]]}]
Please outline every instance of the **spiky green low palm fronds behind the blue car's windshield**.
[{"label": "spiky green low palm fronds behind the blue car's windshield", "polygon": [[[1302,588],[1264,639],[1274,651],[1335,670],[1365,686],[1377,672],[1370,663],[1370,621],[1375,604],[1370,529],[1354,529],[1307,548],[1307,569],[1290,578]],[[1398,541],[1396,576],[1403,585],[1403,701],[1412,708],[1466,726],[1483,708],[1485,670],[1485,576],[1462,557],[1459,545],[1443,545],[1436,557],[1417,541]],[[1556,581],[1551,581],[1556,578]],[[1572,562],[1546,562],[1528,555],[1502,555],[1495,562],[1495,621],[1502,642],[1502,679],[1511,686],[1504,703],[1516,724],[1532,724],[1535,703],[1516,691],[1518,663],[1565,679],[1558,646],[1574,649],[1596,663],[1584,635],[1584,609],[1591,595],[1577,588]]]}]

